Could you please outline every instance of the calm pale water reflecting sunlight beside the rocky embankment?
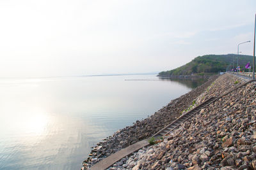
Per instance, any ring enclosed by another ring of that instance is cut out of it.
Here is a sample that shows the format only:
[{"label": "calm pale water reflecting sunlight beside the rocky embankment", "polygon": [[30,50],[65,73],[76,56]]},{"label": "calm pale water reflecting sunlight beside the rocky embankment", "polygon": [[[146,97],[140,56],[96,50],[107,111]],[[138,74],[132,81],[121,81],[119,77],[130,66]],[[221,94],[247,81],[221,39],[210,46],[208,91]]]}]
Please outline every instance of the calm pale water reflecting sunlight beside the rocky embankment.
[{"label": "calm pale water reflecting sunlight beside the rocky embankment", "polygon": [[91,146],[202,83],[157,80],[1,78],[0,169],[81,169]]}]

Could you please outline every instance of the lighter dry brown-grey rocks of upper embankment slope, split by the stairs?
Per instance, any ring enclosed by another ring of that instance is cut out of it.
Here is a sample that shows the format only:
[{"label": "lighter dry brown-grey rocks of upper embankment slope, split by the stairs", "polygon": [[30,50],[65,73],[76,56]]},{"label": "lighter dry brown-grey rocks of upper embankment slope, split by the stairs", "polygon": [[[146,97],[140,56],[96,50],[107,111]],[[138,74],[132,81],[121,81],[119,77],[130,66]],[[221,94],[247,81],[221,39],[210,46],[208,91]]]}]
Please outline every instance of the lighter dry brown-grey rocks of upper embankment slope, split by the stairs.
[{"label": "lighter dry brown-grey rocks of upper embankment slope, split by the stairs", "polygon": [[[244,80],[220,76],[197,102],[221,96]],[[256,83],[203,108],[161,143],[142,148],[109,169],[256,169]]]}]

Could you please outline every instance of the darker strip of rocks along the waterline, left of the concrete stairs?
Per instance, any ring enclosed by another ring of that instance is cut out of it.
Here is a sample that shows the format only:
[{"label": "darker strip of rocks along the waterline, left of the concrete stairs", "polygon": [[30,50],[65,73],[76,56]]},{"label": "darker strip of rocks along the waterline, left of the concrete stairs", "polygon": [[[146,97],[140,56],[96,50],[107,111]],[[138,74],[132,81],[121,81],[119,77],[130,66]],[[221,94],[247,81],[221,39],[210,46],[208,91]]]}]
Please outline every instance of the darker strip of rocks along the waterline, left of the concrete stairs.
[{"label": "darker strip of rocks along the waterline, left of the concrete stairs", "polygon": [[103,139],[102,142],[97,143],[97,146],[95,146],[89,154],[88,159],[84,160],[83,169],[88,169],[88,167],[91,167],[93,164],[96,164],[118,150],[141,141],[142,139],[149,138],[163,129],[163,127],[170,124],[170,122],[173,122],[173,120],[180,117],[182,111],[191,106],[193,100],[200,96],[200,94],[202,94],[202,92],[204,92],[217,77],[218,76],[212,76],[200,87],[174,99],[167,106],[164,106],[150,117],[141,121],[138,120],[134,122],[133,125],[120,129],[115,132],[113,136],[109,136],[108,138]]}]

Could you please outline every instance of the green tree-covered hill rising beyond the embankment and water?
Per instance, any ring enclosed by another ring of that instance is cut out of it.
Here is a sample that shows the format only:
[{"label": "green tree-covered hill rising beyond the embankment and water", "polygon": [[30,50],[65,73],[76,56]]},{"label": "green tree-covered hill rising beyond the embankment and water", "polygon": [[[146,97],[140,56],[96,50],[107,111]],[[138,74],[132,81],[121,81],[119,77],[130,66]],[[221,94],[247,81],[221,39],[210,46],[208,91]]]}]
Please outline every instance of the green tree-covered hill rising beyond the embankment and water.
[{"label": "green tree-covered hill rising beyond the embankment and water", "polygon": [[[191,74],[218,73],[219,71],[230,70],[233,66],[233,60],[234,67],[237,66],[237,56],[236,54],[198,56],[184,66],[170,71],[162,71],[158,76],[190,76]],[[249,61],[252,66],[252,60],[253,56],[251,55],[239,55],[239,66],[244,68]]]}]

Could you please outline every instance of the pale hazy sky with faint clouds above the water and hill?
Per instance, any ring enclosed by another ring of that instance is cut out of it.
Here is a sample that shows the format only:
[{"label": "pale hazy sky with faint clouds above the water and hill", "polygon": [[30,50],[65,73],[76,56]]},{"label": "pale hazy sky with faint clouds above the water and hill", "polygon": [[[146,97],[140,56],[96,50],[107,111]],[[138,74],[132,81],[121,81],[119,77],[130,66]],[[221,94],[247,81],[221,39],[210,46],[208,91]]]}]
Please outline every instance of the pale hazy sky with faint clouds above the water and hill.
[{"label": "pale hazy sky with faint clouds above the water and hill", "polygon": [[256,1],[0,0],[0,77],[150,73],[253,55]]}]

